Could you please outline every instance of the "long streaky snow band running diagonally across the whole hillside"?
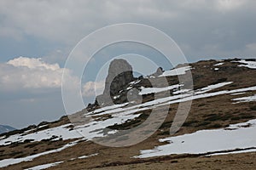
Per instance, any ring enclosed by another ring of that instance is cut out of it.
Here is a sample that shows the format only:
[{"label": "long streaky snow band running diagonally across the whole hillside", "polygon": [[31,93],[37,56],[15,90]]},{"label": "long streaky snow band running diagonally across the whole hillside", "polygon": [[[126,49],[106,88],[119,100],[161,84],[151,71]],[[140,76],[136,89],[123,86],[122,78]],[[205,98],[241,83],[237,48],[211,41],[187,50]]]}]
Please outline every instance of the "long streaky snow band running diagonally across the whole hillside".
[{"label": "long streaky snow band running diagonally across the whole hillside", "polygon": [[[72,124],[69,123],[69,124],[61,125],[59,127],[52,127],[42,131],[38,131],[37,133],[30,133],[30,131],[26,131],[24,133],[11,135],[8,138],[2,137],[2,139],[0,140],[0,145],[7,145],[15,142],[22,143],[25,140],[41,141],[43,139],[66,140],[66,139],[79,139],[79,138],[92,139],[96,137],[102,137],[103,135],[107,135],[107,134],[103,134],[104,128],[113,126],[114,124],[121,124],[122,122],[125,122],[127,120],[132,120],[140,116],[141,111],[147,111],[149,109],[153,109],[161,105],[177,104],[180,102],[189,101],[191,99],[192,100],[204,99],[204,98],[210,98],[212,96],[218,96],[218,95],[224,95],[224,94],[236,94],[238,92],[246,93],[248,91],[256,90],[256,86],[254,86],[249,88],[238,88],[235,90],[221,90],[221,91],[212,92],[212,93],[210,92],[211,90],[224,87],[225,85],[228,85],[231,83],[232,82],[221,82],[218,84],[212,84],[205,88],[197,89],[194,92],[191,92],[186,95],[184,94],[172,95],[170,97],[148,101],[140,105],[128,106],[128,103],[126,103],[123,105],[112,105],[112,106],[102,107],[99,110],[86,113],[86,116],[103,116],[103,115],[111,114],[112,115],[111,118],[108,118],[104,121],[95,120],[93,122],[85,123],[83,126],[79,126],[76,128],[73,128]],[[152,89],[152,92],[154,92],[154,89]],[[251,99],[251,96],[245,97],[245,98]],[[251,100],[245,100],[244,98],[241,98],[241,99],[243,99],[243,102],[251,101]],[[241,99],[238,98],[233,100],[241,100]],[[117,133],[117,132],[118,131],[113,130],[108,133]]]}]

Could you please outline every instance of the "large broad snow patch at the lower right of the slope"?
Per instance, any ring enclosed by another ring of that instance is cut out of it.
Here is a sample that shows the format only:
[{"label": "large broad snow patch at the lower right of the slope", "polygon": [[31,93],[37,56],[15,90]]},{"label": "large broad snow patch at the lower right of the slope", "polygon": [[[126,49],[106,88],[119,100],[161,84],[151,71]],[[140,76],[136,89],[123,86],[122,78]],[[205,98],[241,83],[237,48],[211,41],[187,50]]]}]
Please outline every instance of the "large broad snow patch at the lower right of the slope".
[{"label": "large broad snow patch at the lower right of the slope", "polygon": [[170,144],[155,146],[153,150],[141,150],[141,155],[134,157],[147,158],[172,154],[203,154],[221,150],[256,147],[256,119],[230,125],[229,128],[234,130],[225,130],[224,128],[201,130],[195,133],[160,139],[160,142],[169,142]]}]

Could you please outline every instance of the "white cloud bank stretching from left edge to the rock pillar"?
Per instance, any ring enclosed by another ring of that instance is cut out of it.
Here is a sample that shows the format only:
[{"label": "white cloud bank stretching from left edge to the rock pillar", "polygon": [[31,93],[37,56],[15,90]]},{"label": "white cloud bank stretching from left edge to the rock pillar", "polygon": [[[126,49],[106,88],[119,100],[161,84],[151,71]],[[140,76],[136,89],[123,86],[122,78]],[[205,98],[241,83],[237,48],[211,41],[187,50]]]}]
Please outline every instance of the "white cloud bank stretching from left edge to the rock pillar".
[{"label": "white cloud bank stretching from left edge to the rock pillar", "polygon": [[[41,58],[19,57],[0,64],[1,91],[22,91],[32,89],[61,88],[63,71],[65,74],[65,88],[79,85],[79,78],[71,71],[61,68],[58,64],[49,64]],[[70,86],[69,86],[70,85]],[[92,97],[102,94],[104,81],[86,82],[82,86],[82,95]]]}]

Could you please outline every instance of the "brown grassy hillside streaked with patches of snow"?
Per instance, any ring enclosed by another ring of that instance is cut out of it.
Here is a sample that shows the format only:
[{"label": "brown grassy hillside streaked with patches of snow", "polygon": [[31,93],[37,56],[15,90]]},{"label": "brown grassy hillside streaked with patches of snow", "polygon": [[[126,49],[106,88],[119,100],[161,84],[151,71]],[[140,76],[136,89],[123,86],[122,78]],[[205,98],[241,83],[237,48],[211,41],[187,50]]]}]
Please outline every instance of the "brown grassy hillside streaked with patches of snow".
[{"label": "brown grassy hillside streaked with patches of snow", "polygon": [[[254,169],[256,59],[203,60],[148,77],[127,68],[129,80],[114,75],[108,85],[111,99],[102,94],[71,116],[1,134],[0,169]],[[188,71],[193,90],[178,79]],[[161,79],[167,85],[153,88]],[[188,116],[177,115],[191,100]],[[173,124],[182,127],[171,135]],[[149,130],[125,133],[141,125]]]}]

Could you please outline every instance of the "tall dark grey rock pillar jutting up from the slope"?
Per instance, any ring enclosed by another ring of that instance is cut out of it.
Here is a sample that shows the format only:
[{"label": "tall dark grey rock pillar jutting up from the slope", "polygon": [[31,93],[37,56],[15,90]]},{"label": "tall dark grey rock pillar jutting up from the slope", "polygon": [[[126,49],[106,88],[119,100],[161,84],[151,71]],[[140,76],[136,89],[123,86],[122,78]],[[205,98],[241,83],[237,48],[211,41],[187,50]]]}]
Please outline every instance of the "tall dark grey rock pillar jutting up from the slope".
[{"label": "tall dark grey rock pillar jutting up from the slope", "polygon": [[96,100],[100,105],[108,103],[134,79],[132,67],[125,59],[113,59],[108,68],[104,92]]}]

